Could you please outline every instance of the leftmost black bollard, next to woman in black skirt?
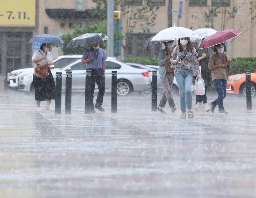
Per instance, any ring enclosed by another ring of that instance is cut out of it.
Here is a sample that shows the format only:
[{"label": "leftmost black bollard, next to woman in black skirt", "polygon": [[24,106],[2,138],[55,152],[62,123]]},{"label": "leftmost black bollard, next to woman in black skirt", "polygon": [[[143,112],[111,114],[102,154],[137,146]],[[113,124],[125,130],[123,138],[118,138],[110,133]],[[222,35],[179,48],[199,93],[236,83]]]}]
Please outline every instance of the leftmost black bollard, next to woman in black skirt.
[{"label": "leftmost black bollard, next to woman in black skirt", "polygon": [[56,72],[55,114],[61,114],[62,72]]}]

